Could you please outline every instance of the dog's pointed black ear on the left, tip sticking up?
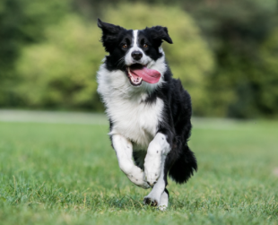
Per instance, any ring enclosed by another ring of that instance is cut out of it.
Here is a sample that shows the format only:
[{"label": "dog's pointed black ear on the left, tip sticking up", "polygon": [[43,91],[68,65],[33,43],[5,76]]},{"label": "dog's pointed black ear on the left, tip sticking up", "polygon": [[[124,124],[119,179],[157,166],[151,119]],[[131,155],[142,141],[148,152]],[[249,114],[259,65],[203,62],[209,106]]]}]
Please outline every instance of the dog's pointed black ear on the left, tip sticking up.
[{"label": "dog's pointed black ear on the left, tip sticking up", "polygon": [[101,42],[107,52],[110,52],[117,41],[117,34],[124,28],[98,19],[98,27],[102,30]]}]

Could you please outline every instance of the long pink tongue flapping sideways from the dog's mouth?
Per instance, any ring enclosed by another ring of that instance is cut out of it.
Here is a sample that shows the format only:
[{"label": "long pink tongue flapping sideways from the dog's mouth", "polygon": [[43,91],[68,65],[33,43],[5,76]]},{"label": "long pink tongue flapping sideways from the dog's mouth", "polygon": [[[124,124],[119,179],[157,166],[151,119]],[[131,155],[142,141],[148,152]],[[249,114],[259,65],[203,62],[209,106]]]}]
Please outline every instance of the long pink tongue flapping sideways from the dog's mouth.
[{"label": "long pink tongue flapping sideways from the dog's mouth", "polygon": [[146,67],[143,67],[143,69],[135,69],[131,70],[130,73],[134,76],[134,78],[137,78],[138,76],[142,77],[142,80],[144,82],[149,83],[156,83],[160,81],[161,73],[157,70],[148,69]]}]

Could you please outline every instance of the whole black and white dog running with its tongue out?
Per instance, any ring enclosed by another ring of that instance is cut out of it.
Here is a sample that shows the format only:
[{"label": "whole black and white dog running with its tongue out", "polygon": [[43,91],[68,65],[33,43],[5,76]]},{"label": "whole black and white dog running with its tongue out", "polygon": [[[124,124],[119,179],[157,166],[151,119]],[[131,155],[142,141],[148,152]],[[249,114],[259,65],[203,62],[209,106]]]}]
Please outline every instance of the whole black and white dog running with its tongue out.
[{"label": "whole black and white dog running with its tongue out", "polygon": [[[191,100],[172,78],[161,48],[166,27],[126,30],[98,20],[109,53],[98,72],[98,92],[110,122],[119,168],[136,185],[152,187],[144,203],[168,206],[167,175],[187,182],[197,169],[187,141]],[[134,158],[134,160],[133,160]]]}]

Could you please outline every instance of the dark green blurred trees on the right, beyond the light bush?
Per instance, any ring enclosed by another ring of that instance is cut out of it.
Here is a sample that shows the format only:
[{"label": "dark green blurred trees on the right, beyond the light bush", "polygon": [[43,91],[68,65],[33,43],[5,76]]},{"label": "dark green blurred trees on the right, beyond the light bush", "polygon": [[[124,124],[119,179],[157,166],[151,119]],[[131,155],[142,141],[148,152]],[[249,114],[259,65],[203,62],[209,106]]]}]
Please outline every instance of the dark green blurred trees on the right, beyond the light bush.
[{"label": "dark green blurred trees on the right, beyond the light bush", "polygon": [[262,70],[264,59],[259,50],[277,24],[277,1],[186,2],[184,7],[209,40],[216,61],[207,87],[212,103],[208,115],[242,118],[278,115],[274,105],[266,114],[260,102],[269,77]]}]

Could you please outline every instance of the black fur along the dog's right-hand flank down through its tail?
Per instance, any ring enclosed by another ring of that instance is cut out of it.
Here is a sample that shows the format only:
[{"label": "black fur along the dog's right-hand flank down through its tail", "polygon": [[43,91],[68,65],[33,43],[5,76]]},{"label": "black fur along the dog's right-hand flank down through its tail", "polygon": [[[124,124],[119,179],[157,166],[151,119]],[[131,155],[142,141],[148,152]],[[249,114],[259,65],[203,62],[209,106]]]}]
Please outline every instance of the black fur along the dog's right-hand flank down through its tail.
[{"label": "black fur along the dog's right-hand flank down through its tail", "polygon": [[197,170],[195,155],[187,142],[191,134],[191,100],[179,80],[173,79],[170,70],[164,74],[165,83],[161,89],[154,91],[149,100],[161,98],[165,104],[164,119],[158,132],[166,134],[172,146],[165,165],[165,173],[177,183],[187,182]]}]

